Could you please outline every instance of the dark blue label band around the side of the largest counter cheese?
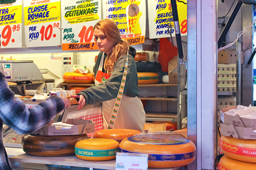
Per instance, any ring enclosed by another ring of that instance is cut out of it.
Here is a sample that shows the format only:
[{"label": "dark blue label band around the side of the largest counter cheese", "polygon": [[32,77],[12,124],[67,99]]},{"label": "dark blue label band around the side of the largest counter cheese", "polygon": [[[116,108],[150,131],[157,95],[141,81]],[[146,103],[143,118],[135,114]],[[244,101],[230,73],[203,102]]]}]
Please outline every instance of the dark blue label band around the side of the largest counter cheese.
[{"label": "dark blue label band around the side of the largest counter cheese", "polygon": [[[124,153],[138,153],[130,150],[120,148],[120,152]],[[195,157],[195,151],[189,153],[178,153],[178,154],[148,154],[149,161],[181,161],[185,159],[191,159]]]}]

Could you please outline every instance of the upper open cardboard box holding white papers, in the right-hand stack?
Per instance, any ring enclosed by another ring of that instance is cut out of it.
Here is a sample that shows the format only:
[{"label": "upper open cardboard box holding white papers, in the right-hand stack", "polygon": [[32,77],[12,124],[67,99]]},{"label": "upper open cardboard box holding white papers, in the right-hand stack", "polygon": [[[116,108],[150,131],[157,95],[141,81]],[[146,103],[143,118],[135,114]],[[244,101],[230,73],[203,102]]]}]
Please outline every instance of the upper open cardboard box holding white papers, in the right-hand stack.
[{"label": "upper open cardboard box holding white papers, in the right-hand stack", "polygon": [[221,109],[221,121],[226,125],[235,125],[238,127],[251,127],[253,130],[256,130],[256,119],[243,118],[239,115],[231,116],[227,115],[224,112],[229,111],[230,109],[235,109],[237,106],[232,106],[228,108]]}]

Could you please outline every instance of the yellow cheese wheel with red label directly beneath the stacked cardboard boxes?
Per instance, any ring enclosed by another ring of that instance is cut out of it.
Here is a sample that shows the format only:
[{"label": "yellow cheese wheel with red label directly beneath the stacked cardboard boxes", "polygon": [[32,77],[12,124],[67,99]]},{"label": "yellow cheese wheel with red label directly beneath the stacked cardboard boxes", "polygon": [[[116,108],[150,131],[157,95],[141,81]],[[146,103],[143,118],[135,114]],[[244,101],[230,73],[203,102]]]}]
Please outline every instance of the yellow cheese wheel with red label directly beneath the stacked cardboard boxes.
[{"label": "yellow cheese wheel with red label directly beneath the stacked cardboard boxes", "polygon": [[221,151],[232,159],[256,163],[256,139],[238,139],[221,135],[220,146]]}]

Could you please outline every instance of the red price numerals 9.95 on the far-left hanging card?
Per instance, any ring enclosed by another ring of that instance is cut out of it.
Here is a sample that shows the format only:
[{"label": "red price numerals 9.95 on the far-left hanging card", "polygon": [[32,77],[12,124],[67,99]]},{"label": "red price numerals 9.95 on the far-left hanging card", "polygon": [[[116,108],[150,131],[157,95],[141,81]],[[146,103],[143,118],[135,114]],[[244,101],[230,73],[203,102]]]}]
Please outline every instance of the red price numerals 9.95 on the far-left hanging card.
[{"label": "red price numerals 9.95 on the far-left hanging card", "polygon": [[15,37],[18,35],[20,28],[21,28],[20,24],[7,25],[3,28],[2,32],[0,33],[1,33],[2,45],[4,47],[12,46],[11,43],[15,42]]}]

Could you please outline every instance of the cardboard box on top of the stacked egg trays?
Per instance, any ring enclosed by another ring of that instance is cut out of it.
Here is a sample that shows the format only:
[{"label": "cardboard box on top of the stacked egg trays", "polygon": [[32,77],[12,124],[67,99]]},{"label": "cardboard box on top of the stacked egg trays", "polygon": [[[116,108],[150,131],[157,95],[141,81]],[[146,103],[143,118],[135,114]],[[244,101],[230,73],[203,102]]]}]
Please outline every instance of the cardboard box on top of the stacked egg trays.
[{"label": "cardboard box on top of the stacked egg trays", "polygon": [[[218,52],[218,63],[236,64],[236,49],[224,49]],[[241,51],[241,64],[243,64],[243,52]]]}]

